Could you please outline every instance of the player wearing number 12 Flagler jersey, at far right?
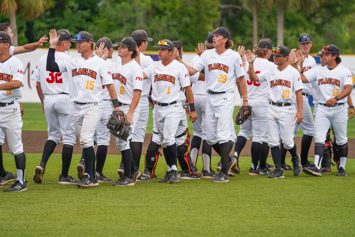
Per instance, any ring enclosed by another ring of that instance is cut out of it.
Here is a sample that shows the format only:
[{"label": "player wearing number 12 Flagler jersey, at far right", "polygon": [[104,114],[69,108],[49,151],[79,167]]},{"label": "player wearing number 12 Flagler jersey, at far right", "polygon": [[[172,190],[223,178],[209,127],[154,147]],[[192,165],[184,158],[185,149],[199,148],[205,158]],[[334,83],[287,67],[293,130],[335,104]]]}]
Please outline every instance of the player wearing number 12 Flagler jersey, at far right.
[{"label": "player wearing number 12 Flagler jersey, at far right", "polygon": [[348,156],[346,97],[353,88],[352,75],[349,69],[339,65],[342,61],[339,56],[340,50],[334,44],[325,46],[321,52],[324,53],[325,66],[307,71],[304,75],[301,74],[304,83],[317,81],[320,91],[319,106],[315,117],[315,164],[310,164],[304,170],[306,174],[322,176],[320,168],[324,154],[324,141],[331,125],[337,138],[336,144],[339,146],[340,165],[337,176],[346,176],[345,163]]}]

